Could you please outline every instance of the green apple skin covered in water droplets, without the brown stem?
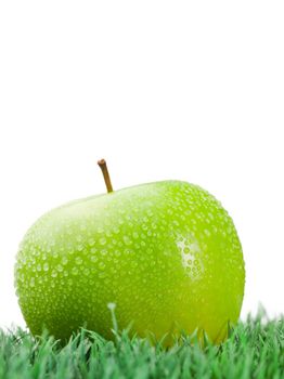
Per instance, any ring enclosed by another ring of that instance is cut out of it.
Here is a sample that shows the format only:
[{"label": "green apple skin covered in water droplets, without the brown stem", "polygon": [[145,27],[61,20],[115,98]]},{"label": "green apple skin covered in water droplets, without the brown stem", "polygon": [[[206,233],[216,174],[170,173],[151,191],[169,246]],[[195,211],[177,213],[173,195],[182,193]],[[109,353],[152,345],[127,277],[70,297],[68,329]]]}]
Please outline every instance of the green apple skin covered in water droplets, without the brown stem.
[{"label": "green apple skin covered in water droplets, without the brown stem", "polygon": [[25,235],[15,287],[34,335],[66,339],[80,326],[112,338],[132,323],[159,339],[204,329],[227,337],[245,285],[232,219],[199,186],[142,184],[75,200],[42,215]]}]

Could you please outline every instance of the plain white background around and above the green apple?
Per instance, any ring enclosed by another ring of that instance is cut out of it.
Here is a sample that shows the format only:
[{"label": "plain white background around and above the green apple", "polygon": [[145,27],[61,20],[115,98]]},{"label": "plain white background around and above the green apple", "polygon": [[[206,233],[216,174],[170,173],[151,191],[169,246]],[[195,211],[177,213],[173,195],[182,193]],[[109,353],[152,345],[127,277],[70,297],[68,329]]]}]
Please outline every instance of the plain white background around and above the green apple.
[{"label": "plain white background around and above the green apple", "polygon": [[284,311],[283,1],[1,1],[0,326],[24,325],[13,264],[43,212],[164,179],[235,221],[242,317]]}]

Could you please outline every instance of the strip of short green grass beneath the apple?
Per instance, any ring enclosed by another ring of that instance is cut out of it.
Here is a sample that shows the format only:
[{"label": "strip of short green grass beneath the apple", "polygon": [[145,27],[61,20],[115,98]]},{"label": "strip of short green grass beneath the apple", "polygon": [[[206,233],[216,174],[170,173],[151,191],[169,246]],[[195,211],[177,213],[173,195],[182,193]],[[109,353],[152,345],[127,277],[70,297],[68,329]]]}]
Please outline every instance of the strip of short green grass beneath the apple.
[{"label": "strip of short green grass beneath the apple", "polygon": [[229,339],[201,348],[193,337],[172,348],[129,338],[106,341],[81,329],[62,347],[48,335],[34,339],[16,329],[0,330],[0,379],[26,378],[284,378],[284,317],[248,317]]}]

